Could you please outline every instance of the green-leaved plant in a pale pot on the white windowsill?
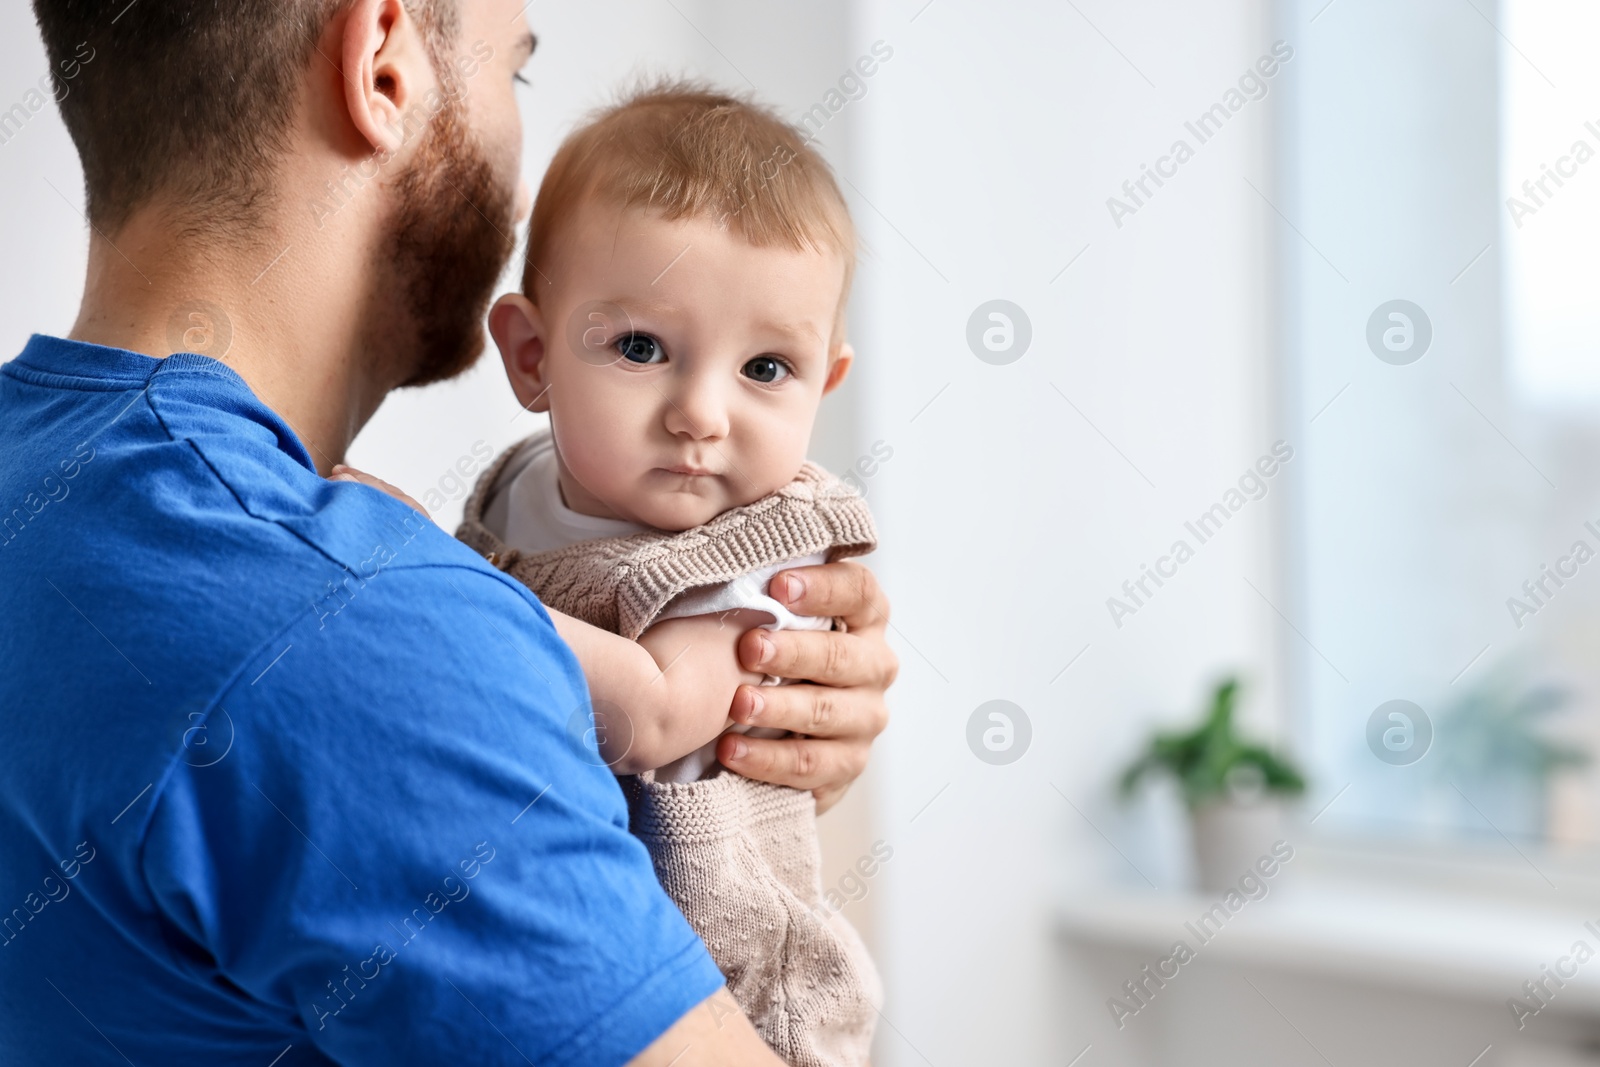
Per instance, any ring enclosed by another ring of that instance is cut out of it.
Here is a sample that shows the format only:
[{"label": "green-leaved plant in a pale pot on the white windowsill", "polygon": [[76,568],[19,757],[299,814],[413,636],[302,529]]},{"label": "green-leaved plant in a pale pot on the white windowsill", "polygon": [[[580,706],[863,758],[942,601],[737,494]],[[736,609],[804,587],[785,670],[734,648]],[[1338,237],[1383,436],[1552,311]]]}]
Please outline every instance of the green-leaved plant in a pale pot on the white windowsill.
[{"label": "green-leaved plant in a pale pot on the white windowsill", "polygon": [[1158,731],[1118,782],[1128,798],[1150,774],[1178,781],[1189,808],[1200,888],[1208,891],[1232,886],[1270,849],[1282,827],[1282,801],[1306,792],[1304,776],[1286,757],[1235,731],[1238,688],[1234,677],[1218,683],[1202,723]]}]

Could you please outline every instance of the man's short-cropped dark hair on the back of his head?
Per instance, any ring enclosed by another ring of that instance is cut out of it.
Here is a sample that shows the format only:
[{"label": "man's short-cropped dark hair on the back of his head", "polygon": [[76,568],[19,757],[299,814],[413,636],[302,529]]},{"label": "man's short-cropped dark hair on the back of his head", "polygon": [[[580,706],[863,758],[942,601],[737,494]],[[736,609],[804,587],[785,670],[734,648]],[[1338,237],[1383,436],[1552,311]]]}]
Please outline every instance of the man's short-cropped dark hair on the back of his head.
[{"label": "man's short-cropped dark hair on the back of his head", "polygon": [[[83,160],[90,221],[115,232],[155,197],[202,224],[254,221],[306,67],[323,62],[317,42],[349,2],[34,0],[50,69],[82,67],[61,117]],[[438,64],[454,0],[406,8]]]}]

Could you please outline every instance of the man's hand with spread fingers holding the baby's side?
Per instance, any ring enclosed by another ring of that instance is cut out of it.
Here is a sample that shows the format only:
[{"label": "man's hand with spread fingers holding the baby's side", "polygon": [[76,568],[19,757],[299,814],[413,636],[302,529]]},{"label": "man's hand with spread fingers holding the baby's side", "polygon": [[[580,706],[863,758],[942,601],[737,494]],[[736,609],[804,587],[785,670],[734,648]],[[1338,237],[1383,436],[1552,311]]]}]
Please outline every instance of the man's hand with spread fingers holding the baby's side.
[{"label": "man's hand with spread fingers holding the baby's side", "polygon": [[800,736],[726,734],[717,742],[717,758],[746,777],[810,789],[822,813],[866,769],[872,741],[888,725],[883,693],[899,673],[899,659],[883,640],[890,603],[859,563],[781,571],[768,592],[795,614],[837,616],[848,632],[750,630],[739,638],[747,670],[810,685],[741,686],[730,709],[736,723]]}]

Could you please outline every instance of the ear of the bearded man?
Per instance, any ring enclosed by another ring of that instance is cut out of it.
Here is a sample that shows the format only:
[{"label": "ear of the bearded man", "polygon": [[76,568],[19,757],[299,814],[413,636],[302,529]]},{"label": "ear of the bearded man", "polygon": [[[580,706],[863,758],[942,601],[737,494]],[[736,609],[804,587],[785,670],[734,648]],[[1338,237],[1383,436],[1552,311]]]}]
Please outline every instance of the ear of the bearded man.
[{"label": "ear of the bearded man", "polygon": [[350,122],[376,152],[397,152],[408,139],[406,114],[426,126],[438,77],[422,32],[400,0],[355,0],[341,40],[344,102]]}]

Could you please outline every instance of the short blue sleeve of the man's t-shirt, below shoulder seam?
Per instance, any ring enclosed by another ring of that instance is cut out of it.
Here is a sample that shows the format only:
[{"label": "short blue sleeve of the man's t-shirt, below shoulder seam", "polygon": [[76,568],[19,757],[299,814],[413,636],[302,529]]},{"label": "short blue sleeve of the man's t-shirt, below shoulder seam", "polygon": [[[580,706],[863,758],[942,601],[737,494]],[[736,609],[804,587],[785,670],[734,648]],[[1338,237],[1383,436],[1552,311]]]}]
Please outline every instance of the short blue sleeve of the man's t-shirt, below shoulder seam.
[{"label": "short blue sleeve of the man's t-shirt, below shoulder seam", "polygon": [[192,717],[142,849],[170,963],[339,1064],[622,1064],[722,985],[509,581],[394,568]]}]

